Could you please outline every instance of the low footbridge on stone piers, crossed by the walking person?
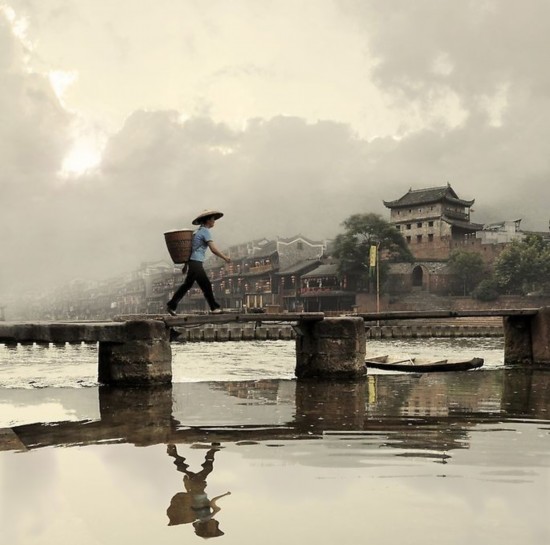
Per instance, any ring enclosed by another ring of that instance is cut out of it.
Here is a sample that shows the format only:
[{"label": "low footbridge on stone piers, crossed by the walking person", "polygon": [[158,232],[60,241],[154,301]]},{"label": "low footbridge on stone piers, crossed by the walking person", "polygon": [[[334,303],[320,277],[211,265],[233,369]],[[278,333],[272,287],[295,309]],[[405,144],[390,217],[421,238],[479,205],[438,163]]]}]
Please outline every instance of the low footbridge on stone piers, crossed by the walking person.
[{"label": "low footbridge on stone piers, crossed by the walking person", "polygon": [[[550,307],[484,311],[381,312],[326,317],[323,313],[121,316],[108,322],[0,322],[0,342],[99,345],[98,380],[135,385],[172,380],[170,341],[175,328],[206,323],[285,322],[297,333],[298,378],[349,379],[364,376],[365,326],[391,320],[502,316],[505,362],[550,365]],[[550,368],[550,367],[549,367]]]}]

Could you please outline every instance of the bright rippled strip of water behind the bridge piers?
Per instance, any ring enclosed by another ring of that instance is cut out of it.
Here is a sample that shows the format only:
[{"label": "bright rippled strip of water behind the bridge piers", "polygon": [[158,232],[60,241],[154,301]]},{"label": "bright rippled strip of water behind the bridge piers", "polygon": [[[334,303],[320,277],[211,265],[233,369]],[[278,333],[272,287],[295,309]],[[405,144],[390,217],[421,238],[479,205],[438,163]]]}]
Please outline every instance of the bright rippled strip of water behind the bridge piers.
[{"label": "bright rippled strip of water behind the bridge piers", "polygon": [[[503,365],[500,338],[381,339],[367,342],[367,354],[433,358],[479,356],[485,369]],[[174,382],[294,377],[294,341],[244,341],[172,345]],[[371,370],[371,373],[377,373]],[[96,345],[65,347],[0,345],[0,388],[97,385]]]}]

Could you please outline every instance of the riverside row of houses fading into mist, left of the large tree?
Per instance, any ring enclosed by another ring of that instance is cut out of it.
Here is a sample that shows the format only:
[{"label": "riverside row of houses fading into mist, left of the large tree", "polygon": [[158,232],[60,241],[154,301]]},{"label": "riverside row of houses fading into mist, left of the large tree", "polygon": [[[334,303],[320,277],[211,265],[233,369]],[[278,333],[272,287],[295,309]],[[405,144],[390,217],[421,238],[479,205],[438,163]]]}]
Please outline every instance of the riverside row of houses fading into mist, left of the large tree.
[{"label": "riverside row of houses fading into mist, left of the large tree", "polygon": [[[336,313],[349,310],[355,294],[337,274],[328,242],[305,236],[254,240],[227,250],[231,263],[216,257],[205,263],[216,299],[235,310]],[[94,320],[124,314],[164,314],[166,302],[183,282],[181,270],[168,262],[143,263],[123,277],[102,282],[73,282],[44,300],[25,305],[33,317]],[[198,287],[190,290],[179,312],[202,312],[207,306]],[[30,316],[29,316],[30,317]],[[21,316],[20,318],[25,318]]]}]

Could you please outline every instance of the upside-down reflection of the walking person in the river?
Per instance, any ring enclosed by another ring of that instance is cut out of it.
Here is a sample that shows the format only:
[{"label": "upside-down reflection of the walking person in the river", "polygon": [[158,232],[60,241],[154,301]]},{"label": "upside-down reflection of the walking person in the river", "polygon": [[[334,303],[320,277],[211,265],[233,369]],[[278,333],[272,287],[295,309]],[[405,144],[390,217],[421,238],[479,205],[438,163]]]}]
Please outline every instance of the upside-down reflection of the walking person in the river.
[{"label": "upside-down reflection of the walking person in the river", "polygon": [[215,445],[216,443],[213,443],[212,448],[206,453],[202,471],[198,473],[189,471],[185,458],[178,454],[175,445],[168,445],[168,455],[174,458],[174,465],[178,471],[184,473],[183,484],[186,490],[186,492],[178,492],[172,498],[170,507],[166,510],[166,514],[170,519],[168,526],[192,522],[198,536],[208,538],[223,535],[223,532],[219,529],[218,521],[213,517],[220,510],[220,507],[216,505],[216,501],[231,494],[231,492],[226,492],[211,500],[208,499],[205,492],[206,477],[214,468],[214,454],[220,450]]}]

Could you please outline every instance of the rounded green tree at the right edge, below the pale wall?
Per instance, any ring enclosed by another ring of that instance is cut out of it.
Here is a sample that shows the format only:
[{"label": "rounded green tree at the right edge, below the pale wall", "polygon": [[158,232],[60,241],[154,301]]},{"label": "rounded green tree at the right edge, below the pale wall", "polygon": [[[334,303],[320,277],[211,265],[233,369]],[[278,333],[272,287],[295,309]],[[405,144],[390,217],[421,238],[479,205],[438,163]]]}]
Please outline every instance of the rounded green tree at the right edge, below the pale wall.
[{"label": "rounded green tree at the right edge, below the pale wall", "polygon": [[525,295],[550,288],[550,246],[540,235],[514,240],[495,261],[494,278],[504,293]]}]

